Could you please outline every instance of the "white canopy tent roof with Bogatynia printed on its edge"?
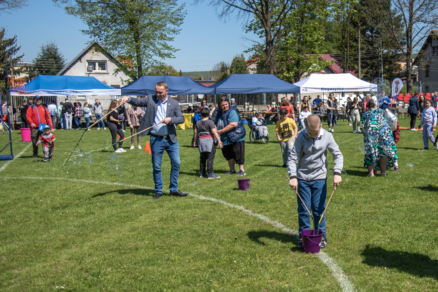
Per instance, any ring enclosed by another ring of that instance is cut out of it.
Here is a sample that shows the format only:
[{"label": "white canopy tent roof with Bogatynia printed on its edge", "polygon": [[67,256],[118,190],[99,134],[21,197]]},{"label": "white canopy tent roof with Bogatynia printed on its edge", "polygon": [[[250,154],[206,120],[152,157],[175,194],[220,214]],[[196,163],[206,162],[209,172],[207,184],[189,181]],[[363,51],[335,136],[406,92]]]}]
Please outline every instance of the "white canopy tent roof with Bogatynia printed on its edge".
[{"label": "white canopy tent roof with Bogatynia printed on its edge", "polygon": [[371,83],[360,80],[350,73],[310,74],[305,79],[294,83],[301,93],[325,91],[369,91]]}]

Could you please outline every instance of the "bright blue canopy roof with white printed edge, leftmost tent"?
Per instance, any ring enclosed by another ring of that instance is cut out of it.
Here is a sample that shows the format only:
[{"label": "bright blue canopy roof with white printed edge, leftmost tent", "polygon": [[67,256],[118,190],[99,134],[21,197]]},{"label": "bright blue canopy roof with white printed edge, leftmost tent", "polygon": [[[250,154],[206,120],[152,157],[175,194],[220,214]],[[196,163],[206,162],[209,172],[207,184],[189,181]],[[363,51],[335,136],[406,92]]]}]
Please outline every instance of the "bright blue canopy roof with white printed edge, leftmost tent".
[{"label": "bright blue canopy roof with white printed edge, leftmost tent", "polygon": [[[11,95],[23,95],[10,90]],[[25,84],[24,95],[120,95],[113,88],[88,76],[38,75]]]}]

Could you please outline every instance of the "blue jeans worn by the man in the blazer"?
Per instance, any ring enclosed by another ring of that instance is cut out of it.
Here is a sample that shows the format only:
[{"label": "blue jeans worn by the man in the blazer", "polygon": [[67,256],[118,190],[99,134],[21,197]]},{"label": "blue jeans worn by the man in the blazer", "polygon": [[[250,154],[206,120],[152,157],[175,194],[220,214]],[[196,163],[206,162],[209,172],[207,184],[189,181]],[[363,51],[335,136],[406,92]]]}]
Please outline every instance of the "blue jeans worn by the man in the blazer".
[{"label": "blue jeans worn by the man in the blazer", "polygon": [[163,180],[161,176],[161,163],[163,152],[166,150],[170,158],[170,193],[178,190],[178,175],[180,173],[180,145],[172,143],[170,138],[155,138],[151,136],[152,167],[154,174],[155,192],[162,193]]}]

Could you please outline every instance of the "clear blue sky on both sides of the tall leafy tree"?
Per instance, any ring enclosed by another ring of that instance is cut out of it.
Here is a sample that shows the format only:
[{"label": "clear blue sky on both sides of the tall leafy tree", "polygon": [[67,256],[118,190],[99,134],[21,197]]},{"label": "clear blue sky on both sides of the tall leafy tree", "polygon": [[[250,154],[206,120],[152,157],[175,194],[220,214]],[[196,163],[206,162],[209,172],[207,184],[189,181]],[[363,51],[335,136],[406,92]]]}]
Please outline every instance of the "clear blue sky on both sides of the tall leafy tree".
[{"label": "clear blue sky on both sides of the tall leafy tree", "polygon": [[[184,1],[178,0],[178,3]],[[180,26],[180,34],[172,42],[172,46],[180,50],[174,54],[176,58],[165,60],[176,70],[208,71],[219,61],[231,63],[233,56],[251,46],[247,39],[257,39],[244,32],[241,21],[235,16],[224,22],[208,2],[196,6],[192,3],[186,3],[187,16]],[[2,13],[0,19],[7,38],[17,35],[20,54],[25,54],[22,60],[28,63],[32,63],[42,44],[48,41],[54,41],[69,62],[91,40],[81,32],[87,28],[85,23],[53,5],[52,0],[28,0],[27,7],[11,14]]]}]

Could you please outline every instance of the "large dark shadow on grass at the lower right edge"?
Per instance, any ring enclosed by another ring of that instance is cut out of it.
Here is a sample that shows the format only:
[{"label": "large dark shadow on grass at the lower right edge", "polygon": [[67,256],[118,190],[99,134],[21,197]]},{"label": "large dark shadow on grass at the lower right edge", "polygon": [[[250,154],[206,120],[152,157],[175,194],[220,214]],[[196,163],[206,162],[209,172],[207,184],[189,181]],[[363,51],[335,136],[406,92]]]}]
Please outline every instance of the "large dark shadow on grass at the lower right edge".
[{"label": "large dark shadow on grass at the lower right edge", "polygon": [[369,266],[387,267],[418,277],[438,279],[438,260],[432,260],[424,254],[390,251],[367,244],[362,255],[365,257],[362,262]]}]

